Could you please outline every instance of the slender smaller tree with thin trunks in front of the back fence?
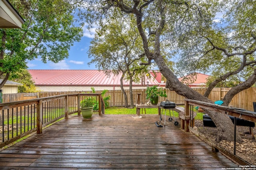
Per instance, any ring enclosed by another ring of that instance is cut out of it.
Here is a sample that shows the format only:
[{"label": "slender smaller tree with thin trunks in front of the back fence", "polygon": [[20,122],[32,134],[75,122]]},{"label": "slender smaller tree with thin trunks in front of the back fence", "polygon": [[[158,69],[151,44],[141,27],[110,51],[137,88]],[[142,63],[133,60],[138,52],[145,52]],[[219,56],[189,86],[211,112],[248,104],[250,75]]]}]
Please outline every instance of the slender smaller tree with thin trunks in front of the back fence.
[{"label": "slender smaller tree with thin trunks in front of the back fence", "polygon": [[[120,72],[120,88],[124,94],[124,106],[128,107],[128,97],[124,90],[123,81],[129,81],[130,107],[134,108],[132,94],[133,82],[140,82],[149,66],[140,66],[146,61],[143,54],[141,37],[134,21],[129,14],[115,11],[115,18],[109,18],[102,28],[97,29],[88,51],[91,63],[96,63],[98,70],[106,74],[110,72],[118,75]],[[122,17],[121,17],[122,16]]]}]

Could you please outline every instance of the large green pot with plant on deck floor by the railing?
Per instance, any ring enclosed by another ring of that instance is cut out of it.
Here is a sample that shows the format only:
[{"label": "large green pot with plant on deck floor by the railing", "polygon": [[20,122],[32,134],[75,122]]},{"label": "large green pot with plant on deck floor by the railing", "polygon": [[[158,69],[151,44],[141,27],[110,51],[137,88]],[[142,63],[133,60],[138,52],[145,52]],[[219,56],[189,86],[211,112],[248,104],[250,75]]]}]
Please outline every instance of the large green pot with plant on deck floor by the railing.
[{"label": "large green pot with plant on deck floor by the railing", "polygon": [[92,117],[94,102],[94,97],[86,97],[80,102],[80,110],[84,119],[89,119]]}]

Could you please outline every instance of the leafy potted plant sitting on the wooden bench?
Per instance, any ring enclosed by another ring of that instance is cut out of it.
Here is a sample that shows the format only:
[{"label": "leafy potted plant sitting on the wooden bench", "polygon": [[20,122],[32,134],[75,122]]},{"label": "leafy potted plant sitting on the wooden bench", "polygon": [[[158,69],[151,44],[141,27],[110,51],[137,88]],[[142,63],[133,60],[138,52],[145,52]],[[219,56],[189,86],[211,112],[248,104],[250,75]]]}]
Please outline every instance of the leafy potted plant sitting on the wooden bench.
[{"label": "leafy potted plant sitting on the wooden bench", "polygon": [[146,99],[150,99],[152,105],[157,105],[159,96],[167,97],[166,91],[163,88],[157,88],[157,86],[147,87],[146,89]]}]

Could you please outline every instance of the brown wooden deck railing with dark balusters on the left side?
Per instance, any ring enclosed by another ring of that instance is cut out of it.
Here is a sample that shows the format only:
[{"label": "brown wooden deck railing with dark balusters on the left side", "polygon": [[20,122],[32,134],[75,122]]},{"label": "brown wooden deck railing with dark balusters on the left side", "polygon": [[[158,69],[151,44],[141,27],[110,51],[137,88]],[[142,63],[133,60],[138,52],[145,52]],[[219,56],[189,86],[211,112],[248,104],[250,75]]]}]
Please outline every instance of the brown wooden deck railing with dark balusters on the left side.
[{"label": "brown wooden deck railing with dark balusters on the left side", "polygon": [[98,113],[104,114],[105,104],[101,94],[65,94],[46,98],[0,104],[0,147],[8,145],[33,132],[42,133],[43,127],[72,113],[80,115],[80,101],[94,96]]}]

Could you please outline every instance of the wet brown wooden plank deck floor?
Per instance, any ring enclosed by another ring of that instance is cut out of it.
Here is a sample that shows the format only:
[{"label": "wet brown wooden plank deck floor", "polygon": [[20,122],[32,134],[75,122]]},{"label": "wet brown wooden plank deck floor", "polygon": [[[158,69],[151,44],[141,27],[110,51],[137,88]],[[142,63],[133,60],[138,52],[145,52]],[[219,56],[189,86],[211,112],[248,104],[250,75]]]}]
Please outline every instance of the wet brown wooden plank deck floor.
[{"label": "wet brown wooden plank deck floor", "polygon": [[194,169],[238,167],[158,115],[74,116],[0,152],[0,169]]}]

